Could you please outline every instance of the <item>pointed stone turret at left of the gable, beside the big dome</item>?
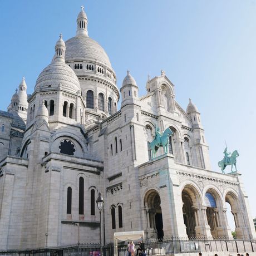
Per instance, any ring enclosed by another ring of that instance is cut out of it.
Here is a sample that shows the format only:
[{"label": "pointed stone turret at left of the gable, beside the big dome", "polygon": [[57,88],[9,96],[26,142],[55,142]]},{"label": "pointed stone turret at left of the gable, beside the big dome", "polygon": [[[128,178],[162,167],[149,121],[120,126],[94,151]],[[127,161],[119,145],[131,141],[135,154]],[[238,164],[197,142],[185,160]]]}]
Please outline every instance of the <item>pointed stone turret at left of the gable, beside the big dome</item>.
[{"label": "pointed stone turret at left of the gable, beside the big dome", "polygon": [[139,87],[137,86],[135,79],[131,76],[129,70],[127,70],[127,75],[122,82],[120,91],[122,93],[121,106],[134,104],[135,101],[139,100]]}]

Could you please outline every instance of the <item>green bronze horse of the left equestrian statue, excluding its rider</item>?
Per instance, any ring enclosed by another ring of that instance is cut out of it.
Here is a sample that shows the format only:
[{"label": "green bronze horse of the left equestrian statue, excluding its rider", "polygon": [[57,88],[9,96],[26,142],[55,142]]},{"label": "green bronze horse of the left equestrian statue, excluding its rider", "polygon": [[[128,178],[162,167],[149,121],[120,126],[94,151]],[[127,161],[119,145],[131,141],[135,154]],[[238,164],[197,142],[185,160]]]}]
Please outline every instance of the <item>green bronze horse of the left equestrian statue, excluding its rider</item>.
[{"label": "green bronze horse of the left equestrian statue, excluding its rider", "polygon": [[157,150],[159,147],[164,147],[165,154],[168,153],[169,137],[173,135],[173,131],[168,127],[162,136],[155,137],[155,139],[150,142],[150,149],[152,152],[152,159],[156,157]]}]

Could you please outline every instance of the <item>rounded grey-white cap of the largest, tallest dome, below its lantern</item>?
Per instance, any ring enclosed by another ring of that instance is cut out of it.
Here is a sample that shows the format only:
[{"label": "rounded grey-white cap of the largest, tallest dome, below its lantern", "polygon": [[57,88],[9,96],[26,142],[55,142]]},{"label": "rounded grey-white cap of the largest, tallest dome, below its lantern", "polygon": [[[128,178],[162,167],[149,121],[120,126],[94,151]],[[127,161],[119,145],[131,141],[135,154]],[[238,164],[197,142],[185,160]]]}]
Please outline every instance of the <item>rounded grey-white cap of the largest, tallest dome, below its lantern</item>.
[{"label": "rounded grey-white cap of the largest, tallest dome, below its lantern", "polygon": [[104,49],[95,40],[86,35],[78,35],[66,42],[66,62],[71,60],[88,60],[100,62],[111,67],[109,57]]}]

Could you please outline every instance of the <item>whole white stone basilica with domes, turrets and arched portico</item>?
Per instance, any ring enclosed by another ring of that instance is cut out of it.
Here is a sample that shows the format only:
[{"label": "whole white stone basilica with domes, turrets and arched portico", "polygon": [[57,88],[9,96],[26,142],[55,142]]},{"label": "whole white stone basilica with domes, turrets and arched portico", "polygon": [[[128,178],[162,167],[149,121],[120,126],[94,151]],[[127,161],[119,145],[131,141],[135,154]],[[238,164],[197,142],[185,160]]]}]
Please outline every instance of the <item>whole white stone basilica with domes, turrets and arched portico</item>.
[{"label": "whole white stone basilica with domes, turrets and arched portico", "polygon": [[[227,204],[237,237],[256,237],[241,175],[211,170],[195,104],[178,104],[164,71],[145,81],[144,96],[129,71],[119,90],[83,8],[76,26],[58,38],[32,95],[22,78],[0,111],[0,250],[99,241],[99,193],[104,244],[132,230],[232,237]],[[168,128],[168,152],[153,157],[150,142]]]}]

